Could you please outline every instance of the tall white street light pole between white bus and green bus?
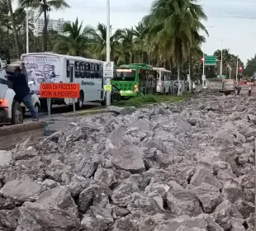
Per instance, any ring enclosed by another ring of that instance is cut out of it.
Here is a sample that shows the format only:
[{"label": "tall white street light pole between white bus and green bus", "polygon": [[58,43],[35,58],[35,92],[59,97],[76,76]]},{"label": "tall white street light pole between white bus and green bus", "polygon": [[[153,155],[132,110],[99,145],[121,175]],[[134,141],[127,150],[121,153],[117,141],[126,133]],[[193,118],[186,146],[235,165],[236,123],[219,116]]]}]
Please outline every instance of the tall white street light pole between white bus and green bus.
[{"label": "tall white street light pole between white bus and green bus", "polygon": [[[107,62],[110,62],[110,0],[107,0]],[[106,79],[106,84],[110,85],[111,80],[110,78]],[[107,106],[111,105],[111,92],[107,91]]]}]

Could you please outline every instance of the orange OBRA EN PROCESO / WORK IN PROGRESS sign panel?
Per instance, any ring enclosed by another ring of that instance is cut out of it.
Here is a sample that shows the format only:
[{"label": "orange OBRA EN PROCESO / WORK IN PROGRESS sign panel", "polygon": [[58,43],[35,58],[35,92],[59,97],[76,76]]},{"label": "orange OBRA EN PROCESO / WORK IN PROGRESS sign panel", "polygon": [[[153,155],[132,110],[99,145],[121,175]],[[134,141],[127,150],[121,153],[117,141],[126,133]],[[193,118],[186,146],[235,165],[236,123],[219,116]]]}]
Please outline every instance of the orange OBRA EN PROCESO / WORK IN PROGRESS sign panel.
[{"label": "orange OBRA EN PROCESO / WORK IN PROGRESS sign panel", "polygon": [[79,98],[78,83],[41,83],[41,98]]}]

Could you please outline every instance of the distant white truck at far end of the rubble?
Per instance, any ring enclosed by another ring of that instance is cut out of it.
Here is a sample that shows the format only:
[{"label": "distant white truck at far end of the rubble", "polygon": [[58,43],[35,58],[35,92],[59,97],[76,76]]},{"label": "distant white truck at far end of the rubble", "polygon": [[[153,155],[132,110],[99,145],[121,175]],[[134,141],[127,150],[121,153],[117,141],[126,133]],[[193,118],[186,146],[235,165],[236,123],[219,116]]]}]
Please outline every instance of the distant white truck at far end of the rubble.
[{"label": "distant white truck at far end of the rubble", "polygon": [[209,78],[207,88],[224,93],[225,96],[235,94],[235,80],[223,78]]}]

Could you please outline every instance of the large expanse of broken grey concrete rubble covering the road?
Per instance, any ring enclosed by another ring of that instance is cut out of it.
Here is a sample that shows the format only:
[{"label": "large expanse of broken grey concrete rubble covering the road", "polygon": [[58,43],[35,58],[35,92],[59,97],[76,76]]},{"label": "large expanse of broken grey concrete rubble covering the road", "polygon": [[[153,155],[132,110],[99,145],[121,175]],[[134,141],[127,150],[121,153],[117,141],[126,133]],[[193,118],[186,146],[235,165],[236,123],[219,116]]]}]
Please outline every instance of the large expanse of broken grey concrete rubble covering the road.
[{"label": "large expanse of broken grey concrete rubble covering the road", "polygon": [[0,230],[255,230],[256,102],[111,106],[0,151]]}]

